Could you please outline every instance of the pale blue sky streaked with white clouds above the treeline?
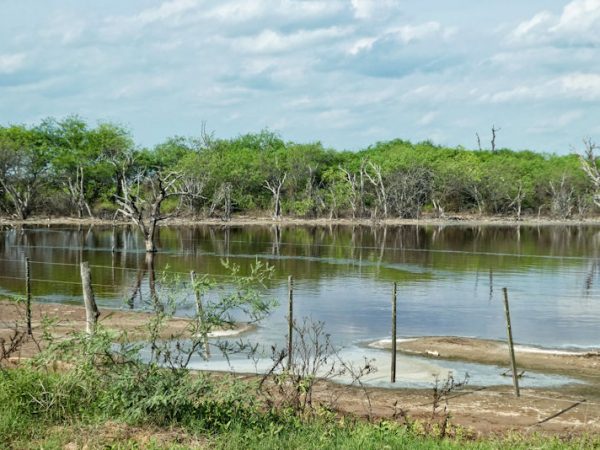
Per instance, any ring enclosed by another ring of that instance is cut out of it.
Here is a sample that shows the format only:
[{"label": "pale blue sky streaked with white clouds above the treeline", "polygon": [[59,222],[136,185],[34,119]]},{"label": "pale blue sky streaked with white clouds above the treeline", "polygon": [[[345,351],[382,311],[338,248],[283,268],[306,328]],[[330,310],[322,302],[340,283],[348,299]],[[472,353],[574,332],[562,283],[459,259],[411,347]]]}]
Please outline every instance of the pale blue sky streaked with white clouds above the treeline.
[{"label": "pale blue sky streaked with white clouds above the treeline", "polygon": [[0,124],[71,114],[565,154],[600,141],[600,0],[0,0]]}]

